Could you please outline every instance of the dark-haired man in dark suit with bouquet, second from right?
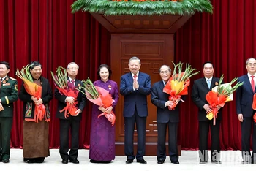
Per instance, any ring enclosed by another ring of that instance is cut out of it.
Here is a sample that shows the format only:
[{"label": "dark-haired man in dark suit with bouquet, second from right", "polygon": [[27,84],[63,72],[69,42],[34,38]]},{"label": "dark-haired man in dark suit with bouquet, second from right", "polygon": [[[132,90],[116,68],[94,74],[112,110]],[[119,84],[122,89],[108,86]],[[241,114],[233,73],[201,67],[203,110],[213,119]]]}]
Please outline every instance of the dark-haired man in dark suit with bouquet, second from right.
[{"label": "dark-haired man in dark suit with bouquet, second from right", "polygon": [[213,124],[213,119],[208,120],[206,114],[212,111],[211,106],[206,101],[206,94],[211,91],[211,88],[218,85],[219,78],[213,77],[214,64],[207,61],[203,64],[204,77],[195,80],[192,87],[192,100],[198,107],[198,121],[199,121],[199,164],[206,164],[208,162],[208,132],[211,127],[211,162],[222,164],[219,161],[220,145],[219,145],[219,128],[222,119],[221,107],[217,106],[219,110],[216,119],[216,125]]}]

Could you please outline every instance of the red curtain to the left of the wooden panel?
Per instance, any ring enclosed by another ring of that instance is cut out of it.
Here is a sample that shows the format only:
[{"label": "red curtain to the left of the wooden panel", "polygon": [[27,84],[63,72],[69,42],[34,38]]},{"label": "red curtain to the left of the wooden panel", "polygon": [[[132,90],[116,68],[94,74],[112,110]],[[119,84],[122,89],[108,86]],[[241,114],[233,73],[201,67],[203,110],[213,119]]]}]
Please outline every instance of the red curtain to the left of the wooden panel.
[{"label": "red curtain to the left of the wooden panel", "polygon": [[[42,64],[42,76],[50,80],[50,71],[75,61],[78,79],[98,79],[99,64],[110,64],[110,34],[89,13],[71,13],[73,0],[0,0],[0,60],[10,62],[10,76],[31,61]],[[17,77],[16,77],[17,78]],[[18,78],[19,86],[21,80]],[[57,102],[50,102],[50,148],[59,148]],[[12,147],[22,148],[22,102],[15,102]],[[83,111],[80,148],[88,148],[91,104]]]}]

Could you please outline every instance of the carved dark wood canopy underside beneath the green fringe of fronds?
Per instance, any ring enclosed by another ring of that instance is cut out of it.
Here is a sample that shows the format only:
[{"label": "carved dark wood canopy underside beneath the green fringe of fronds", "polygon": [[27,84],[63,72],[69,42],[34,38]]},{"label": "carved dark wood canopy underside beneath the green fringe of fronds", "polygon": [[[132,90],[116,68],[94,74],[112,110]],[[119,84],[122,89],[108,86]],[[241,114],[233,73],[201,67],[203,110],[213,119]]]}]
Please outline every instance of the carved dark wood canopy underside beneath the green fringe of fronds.
[{"label": "carved dark wood canopy underside beneath the green fringe of fronds", "polygon": [[110,33],[174,34],[192,15],[110,15],[91,13]]}]

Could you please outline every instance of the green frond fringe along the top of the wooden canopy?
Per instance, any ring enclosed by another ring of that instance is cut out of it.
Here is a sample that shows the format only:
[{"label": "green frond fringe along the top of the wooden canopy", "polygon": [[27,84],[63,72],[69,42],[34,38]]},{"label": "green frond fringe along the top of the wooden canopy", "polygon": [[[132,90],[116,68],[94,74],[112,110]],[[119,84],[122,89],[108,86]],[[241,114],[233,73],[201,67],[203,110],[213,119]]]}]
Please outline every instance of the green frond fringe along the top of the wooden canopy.
[{"label": "green frond fringe along the top of the wooden canopy", "polygon": [[103,15],[192,15],[213,12],[209,0],[77,0],[72,12],[96,12]]}]

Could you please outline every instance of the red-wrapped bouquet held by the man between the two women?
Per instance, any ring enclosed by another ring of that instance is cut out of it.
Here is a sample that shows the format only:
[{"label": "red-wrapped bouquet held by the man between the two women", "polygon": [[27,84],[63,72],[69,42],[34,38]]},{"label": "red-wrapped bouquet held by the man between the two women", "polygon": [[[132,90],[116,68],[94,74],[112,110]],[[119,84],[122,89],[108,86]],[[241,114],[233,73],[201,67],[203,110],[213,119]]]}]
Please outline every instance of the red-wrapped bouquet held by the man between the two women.
[{"label": "red-wrapped bouquet held by the man between the two women", "polygon": [[59,112],[62,113],[64,111],[65,118],[69,117],[69,114],[76,115],[75,111],[78,110],[78,107],[76,107],[76,104],[78,104],[76,99],[78,98],[79,91],[75,88],[73,83],[70,83],[67,80],[67,70],[59,66],[56,69],[55,75],[53,75],[53,72],[50,73],[53,77],[54,85],[59,90],[59,93],[64,96],[72,96],[75,99],[73,104],[66,102],[66,107]]}]

